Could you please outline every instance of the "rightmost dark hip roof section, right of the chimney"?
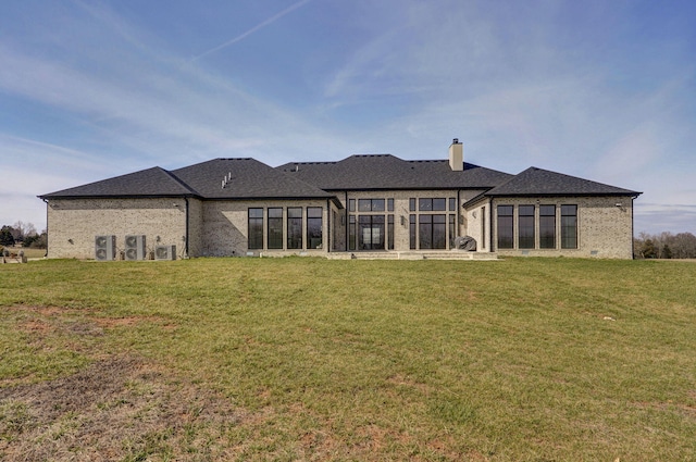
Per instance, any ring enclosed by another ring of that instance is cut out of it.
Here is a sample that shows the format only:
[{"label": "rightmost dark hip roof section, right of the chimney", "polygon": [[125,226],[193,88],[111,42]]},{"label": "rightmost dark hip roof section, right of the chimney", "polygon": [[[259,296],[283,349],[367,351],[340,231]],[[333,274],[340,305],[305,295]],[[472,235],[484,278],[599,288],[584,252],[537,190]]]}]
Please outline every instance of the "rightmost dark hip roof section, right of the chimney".
[{"label": "rightmost dark hip roof section, right of the chimney", "polygon": [[530,167],[484,196],[639,196],[641,192]]}]

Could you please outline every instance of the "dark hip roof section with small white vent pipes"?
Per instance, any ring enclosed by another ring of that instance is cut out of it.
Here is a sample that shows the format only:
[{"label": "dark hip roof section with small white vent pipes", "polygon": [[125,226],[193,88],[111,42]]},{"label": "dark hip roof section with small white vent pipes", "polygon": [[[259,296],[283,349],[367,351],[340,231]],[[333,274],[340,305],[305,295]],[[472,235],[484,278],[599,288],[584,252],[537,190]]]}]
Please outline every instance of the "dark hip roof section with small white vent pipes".
[{"label": "dark hip roof section with small white vent pipes", "polygon": [[[204,199],[326,199],[334,196],[254,159],[214,159],[172,171]],[[225,177],[231,179],[222,187]]]}]

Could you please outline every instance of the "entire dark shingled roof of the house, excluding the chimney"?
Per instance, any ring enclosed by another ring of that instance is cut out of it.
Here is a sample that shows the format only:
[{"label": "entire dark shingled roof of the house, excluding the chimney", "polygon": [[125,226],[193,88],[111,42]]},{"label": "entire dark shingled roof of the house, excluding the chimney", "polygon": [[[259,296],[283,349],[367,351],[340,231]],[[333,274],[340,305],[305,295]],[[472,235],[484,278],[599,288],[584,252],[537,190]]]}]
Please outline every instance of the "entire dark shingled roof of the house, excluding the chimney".
[{"label": "entire dark shingled roof of the house, excluding the chimney", "polygon": [[338,204],[336,191],[385,189],[487,190],[472,200],[482,196],[641,193],[536,167],[510,175],[465,163],[463,171],[452,172],[447,160],[405,161],[378,154],[351,155],[338,162],[287,163],[275,168],[254,159],[214,159],[171,172],[152,167],[39,197],[333,199]]}]

